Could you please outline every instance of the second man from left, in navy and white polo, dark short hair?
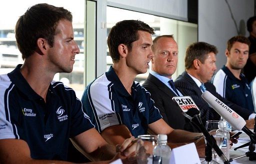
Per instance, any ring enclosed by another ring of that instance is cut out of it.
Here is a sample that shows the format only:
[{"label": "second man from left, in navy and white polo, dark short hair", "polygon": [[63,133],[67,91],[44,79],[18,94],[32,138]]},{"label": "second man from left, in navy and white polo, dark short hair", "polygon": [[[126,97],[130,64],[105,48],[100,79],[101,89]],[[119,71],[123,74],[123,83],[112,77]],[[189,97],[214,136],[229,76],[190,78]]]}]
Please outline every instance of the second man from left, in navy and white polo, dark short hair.
[{"label": "second man from left, in navy and white polo, dark short hair", "polygon": [[171,128],[154,106],[150,93],[134,81],[137,74],[147,71],[153,57],[153,33],[153,28],[139,20],[119,21],[111,28],[107,44],[113,65],[86,87],[84,111],[108,143],[119,144],[149,130],[167,134],[171,143],[196,141],[199,155],[204,156],[202,133]]}]

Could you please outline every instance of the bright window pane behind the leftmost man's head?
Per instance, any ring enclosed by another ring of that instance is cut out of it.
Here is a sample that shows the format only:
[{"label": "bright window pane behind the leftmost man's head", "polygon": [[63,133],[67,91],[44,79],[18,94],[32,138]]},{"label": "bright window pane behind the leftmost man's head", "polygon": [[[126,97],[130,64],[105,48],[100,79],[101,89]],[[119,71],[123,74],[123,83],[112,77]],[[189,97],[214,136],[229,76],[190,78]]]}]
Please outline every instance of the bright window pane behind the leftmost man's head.
[{"label": "bright window pane behind the leftmost man's head", "polygon": [[[84,2],[76,0],[3,0],[0,5],[0,73],[10,72],[18,63],[23,63],[21,54],[15,43],[14,27],[20,15],[37,3],[48,3],[61,6],[72,12],[74,40],[80,48],[80,54],[75,55],[75,63],[71,73],[56,73],[55,80],[60,80],[74,88],[80,98],[84,90]],[[14,5],[13,5],[14,4]],[[78,5],[77,5],[78,4]],[[77,8],[79,7],[79,8]],[[11,9],[10,9],[11,8]]]}]

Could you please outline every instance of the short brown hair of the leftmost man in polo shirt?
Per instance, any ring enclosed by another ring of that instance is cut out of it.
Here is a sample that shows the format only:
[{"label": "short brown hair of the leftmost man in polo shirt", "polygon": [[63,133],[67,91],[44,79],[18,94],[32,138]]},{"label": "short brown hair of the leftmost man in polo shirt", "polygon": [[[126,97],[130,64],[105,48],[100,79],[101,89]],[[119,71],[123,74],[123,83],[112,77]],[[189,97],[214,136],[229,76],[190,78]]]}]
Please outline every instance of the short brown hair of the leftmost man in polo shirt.
[{"label": "short brown hair of the leftmost man in polo shirt", "polygon": [[55,7],[47,3],[31,6],[21,15],[15,26],[15,37],[22,58],[30,56],[37,47],[37,39],[45,38],[53,46],[56,26],[60,19],[72,22],[72,14],[63,7]]}]

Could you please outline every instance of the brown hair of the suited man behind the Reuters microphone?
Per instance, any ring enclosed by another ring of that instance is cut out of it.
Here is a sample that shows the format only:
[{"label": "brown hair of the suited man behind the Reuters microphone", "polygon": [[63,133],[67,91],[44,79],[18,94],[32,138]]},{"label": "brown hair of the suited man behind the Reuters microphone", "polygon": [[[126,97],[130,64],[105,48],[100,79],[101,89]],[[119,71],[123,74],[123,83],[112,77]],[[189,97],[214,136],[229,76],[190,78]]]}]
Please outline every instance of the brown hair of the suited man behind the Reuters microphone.
[{"label": "brown hair of the suited man behind the Reuters microphone", "polygon": [[205,59],[207,58],[207,54],[210,52],[217,54],[218,50],[216,46],[202,41],[190,44],[186,49],[185,68],[190,68],[193,65],[194,59],[198,59],[204,63]]}]

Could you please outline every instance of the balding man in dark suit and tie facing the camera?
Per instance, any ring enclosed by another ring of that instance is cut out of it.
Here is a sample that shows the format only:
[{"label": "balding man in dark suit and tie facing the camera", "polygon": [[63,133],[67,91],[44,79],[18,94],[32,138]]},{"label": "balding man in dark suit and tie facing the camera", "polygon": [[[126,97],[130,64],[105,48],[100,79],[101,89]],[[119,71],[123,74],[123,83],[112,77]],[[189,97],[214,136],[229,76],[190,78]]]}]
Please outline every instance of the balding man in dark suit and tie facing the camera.
[{"label": "balding man in dark suit and tie facing the camera", "polygon": [[[153,40],[151,70],[143,83],[154,100],[154,105],[159,109],[162,118],[174,129],[196,131],[190,123],[185,123],[182,110],[172,101],[173,96],[179,96],[178,90],[173,90],[169,81],[176,70],[178,46],[173,35],[157,36]],[[174,86],[174,85],[173,85]],[[175,89],[175,88],[174,88]]]}]

